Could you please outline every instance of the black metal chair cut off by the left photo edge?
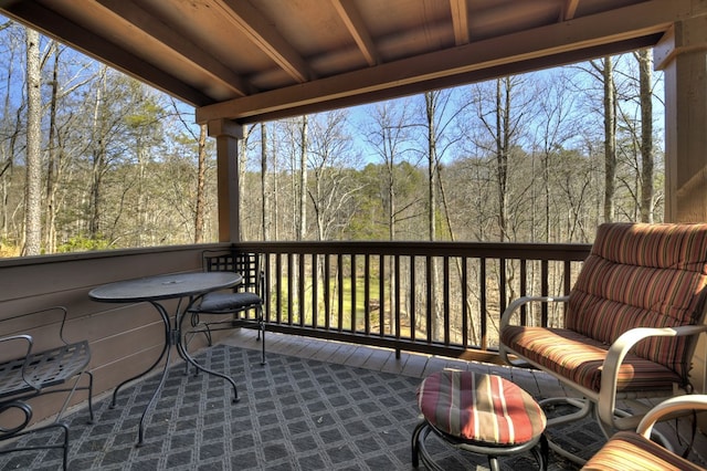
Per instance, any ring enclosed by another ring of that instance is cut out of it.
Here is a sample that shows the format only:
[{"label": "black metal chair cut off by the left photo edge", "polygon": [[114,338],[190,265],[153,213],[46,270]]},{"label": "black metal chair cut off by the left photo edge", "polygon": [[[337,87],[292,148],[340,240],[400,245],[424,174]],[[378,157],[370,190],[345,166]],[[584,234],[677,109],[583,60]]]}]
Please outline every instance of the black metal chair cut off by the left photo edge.
[{"label": "black metal chair cut off by the left photo edge", "polygon": [[[18,444],[0,450],[0,454],[14,451],[63,449],[63,465],[67,467],[68,460],[68,425],[62,421],[73,394],[76,390],[88,391],[89,423],[93,422],[93,375],[86,369],[91,362],[91,350],[87,341],[70,343],[64,338],[64,324],[67,311],[65,307],[55,306],[41,311],[7,317],[3,320],[10,331],[27,332],[27,317],[33,315],[59,317],[62,314],[59,335],[46,342],[51,347],[38,348],[35,344],[44,343],[27,333],[19,333],[0,337],[0,441],[15,439],[21,436],[60,428],[64,438],[60,443],[30,443]],[[7,324],[12,323],[12,324]],[[22,353],[21,356],[17,356]],[[11,359],[7,359],[11,358]],[[88,384],[80,386],[83,375],[88,376]],[[65,386],[63,386],[65,385]],[[30,399],[48,394],[67,393],[62,408],[56,414],[55,420],[45,426],[32,427],[32,406]]]}]

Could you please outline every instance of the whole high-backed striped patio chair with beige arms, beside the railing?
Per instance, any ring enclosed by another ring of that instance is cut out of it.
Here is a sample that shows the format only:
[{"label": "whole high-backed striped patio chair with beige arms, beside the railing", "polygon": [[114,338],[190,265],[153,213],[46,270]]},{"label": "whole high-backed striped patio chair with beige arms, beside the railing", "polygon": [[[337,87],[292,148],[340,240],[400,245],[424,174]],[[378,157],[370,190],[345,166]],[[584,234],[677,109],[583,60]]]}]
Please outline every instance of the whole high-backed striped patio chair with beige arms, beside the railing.
[{"label": "whole high-backed striped patio chair with beige arms, beside the railing", "polygon": [[[583,399],[548,427],[595,414],[608,437],[634,430],[646,407],[616,401],[690,393],[707,300],[707,224],[602,224],[569,296],[521,297],[502,316],[500,355],[555,376]],[[564,302],[561,328],[511,325],[530,302]],[[551,447],[567,458],[577,457]]]}]

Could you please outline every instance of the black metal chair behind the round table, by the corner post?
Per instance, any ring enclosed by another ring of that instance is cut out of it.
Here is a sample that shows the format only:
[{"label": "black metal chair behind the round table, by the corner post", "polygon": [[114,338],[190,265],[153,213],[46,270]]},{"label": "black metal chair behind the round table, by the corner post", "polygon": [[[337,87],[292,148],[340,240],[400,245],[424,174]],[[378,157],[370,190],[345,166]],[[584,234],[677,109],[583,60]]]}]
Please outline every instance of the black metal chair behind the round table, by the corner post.
[{"label": "black metal chair behind the round table, by the corner post", "polygon": [[[258,253],[242,253],[230,250],[208,250],[203,253],[203,269],[208,272],[229,271],[243,276],[233,291],[208,293],[189,306],[191,329],[187,335],[202,333],[212,345],[214,331],[250,327],[257,329],[262,342],[262,364],[265,364],[265,322],[263,320],[265,273],[261,270]],[[228,315],[228,318],[217,318]]]}]

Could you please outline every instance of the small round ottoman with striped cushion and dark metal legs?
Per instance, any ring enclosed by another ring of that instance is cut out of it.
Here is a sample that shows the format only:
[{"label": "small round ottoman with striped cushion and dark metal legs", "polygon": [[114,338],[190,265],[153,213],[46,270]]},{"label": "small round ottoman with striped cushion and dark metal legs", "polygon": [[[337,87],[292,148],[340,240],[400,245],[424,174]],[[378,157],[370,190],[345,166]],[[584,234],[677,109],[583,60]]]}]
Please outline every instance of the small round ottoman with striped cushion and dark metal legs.
[{"label": "small round ottoman with striped cushion and dark metal legs", "polygon": [[422,461],[428,469],[442,470],[424,447],[432,431],[461,450],[486,454],[494,471],[498,470],[497,457],[528,450],[540,469],[547,469],[545,414],[528,393],[499,376],[434,373],[418,388],[418,405],[423,420],[412,433],[415,468]]}]

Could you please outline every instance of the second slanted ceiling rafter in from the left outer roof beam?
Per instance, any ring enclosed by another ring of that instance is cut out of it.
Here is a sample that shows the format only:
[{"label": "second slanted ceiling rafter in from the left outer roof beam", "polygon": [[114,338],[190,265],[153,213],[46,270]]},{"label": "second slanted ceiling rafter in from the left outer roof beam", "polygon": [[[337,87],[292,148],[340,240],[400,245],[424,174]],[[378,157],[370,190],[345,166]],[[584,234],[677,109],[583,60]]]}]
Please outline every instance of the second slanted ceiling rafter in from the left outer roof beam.
[{"label": "second slanted ceiling rafter in from the left outer roof beam", "polygon": [[250,2],[219,0],[215,6],[234,27],[295,81],[302,83],[315,78],[305,60]]}]

